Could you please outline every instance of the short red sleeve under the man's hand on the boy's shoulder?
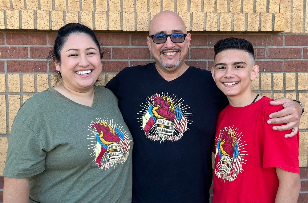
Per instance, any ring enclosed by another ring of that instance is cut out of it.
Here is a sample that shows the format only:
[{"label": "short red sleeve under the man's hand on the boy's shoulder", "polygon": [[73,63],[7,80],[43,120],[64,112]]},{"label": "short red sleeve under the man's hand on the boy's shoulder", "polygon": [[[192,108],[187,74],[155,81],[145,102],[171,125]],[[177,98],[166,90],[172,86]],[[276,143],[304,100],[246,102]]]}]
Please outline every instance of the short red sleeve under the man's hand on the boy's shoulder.
[{"label": "short red sleeve under the man's hand on the boy's shoulder", "polygon": [[282,106],[266,107],[268,110],[265,113],[264,124],[264,149],[263,149],[263,168],[279,167],[282,170],[299,173],[299,161],[298,161],[298,146],[299,146],[299,132],[297,135],[291,138],[285,138],[288,131],[276,131],[273,130],[274,126],[269,125],[266,121],[269,119],[268,115],[273,112],[277,112],[283,109]]}]

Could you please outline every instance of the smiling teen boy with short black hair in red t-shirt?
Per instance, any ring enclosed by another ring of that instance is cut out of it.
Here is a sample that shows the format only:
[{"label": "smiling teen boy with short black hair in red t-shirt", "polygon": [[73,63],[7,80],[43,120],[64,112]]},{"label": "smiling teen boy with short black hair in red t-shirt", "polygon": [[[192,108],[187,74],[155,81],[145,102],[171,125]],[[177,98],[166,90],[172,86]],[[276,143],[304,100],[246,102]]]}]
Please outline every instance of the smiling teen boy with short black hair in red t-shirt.
[{"label": "smiling teen boy with short black hair in red t-shirt", "polygon": [[215,44],[213,79],[229,105],[217,121],[213,202],[296,202],[299,134],[284,138],[266,121],[283,109],[250,88],[259,72],[245,39]]}]

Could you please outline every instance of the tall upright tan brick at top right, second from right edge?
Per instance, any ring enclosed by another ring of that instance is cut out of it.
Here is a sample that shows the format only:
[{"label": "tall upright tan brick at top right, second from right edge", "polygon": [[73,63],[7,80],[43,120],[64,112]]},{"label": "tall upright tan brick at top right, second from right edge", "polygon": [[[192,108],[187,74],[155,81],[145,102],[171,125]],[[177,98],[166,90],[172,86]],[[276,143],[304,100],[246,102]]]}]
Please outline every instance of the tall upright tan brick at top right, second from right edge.
[{"label": "tall upright tan brick at top right, second from right edge", "polygon": [[292,32],[302,33],[303,32],[303,2],[293,1],[292,8]]}]

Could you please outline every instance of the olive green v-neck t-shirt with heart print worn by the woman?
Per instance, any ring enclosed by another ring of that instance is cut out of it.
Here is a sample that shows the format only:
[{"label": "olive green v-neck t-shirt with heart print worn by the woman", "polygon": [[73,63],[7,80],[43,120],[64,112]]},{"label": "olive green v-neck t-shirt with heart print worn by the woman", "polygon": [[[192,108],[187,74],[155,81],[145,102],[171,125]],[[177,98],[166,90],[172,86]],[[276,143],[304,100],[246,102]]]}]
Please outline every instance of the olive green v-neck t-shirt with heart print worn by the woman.
[{"label": "olive green v-neck t-shirt with heart print worn by the woman", "polygon": [[8,145],[3,176],[30,177],[30,201],[131,202],[132,136],[106,88],[92,107],[53,88],[32,96]]}]

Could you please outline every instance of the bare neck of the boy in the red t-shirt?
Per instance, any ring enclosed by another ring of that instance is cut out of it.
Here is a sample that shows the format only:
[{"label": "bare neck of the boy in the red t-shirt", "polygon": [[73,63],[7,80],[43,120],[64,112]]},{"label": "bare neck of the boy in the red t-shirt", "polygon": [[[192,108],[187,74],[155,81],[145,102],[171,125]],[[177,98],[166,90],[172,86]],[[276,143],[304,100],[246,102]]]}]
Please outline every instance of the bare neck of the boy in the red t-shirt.
[{"label": "bare neck of the boy in the red t-shirt", "polygon": [[[249,92],[247,92],[245,94],[236,95],[236,96],[227,96],[227,98],[228,98],[229,103],[230,103],[231,106],[234,106],[234,107],[244,107],[244,106],[247,106],[249,104],[252,104],[252,102],[256,98],[256,96],[257,96],[257,93],[255,93],[254,91],[250,90]],[[259,96],[256,99],[256,101],[258,101],[261,98],[262,98],[262,96]]]}]

